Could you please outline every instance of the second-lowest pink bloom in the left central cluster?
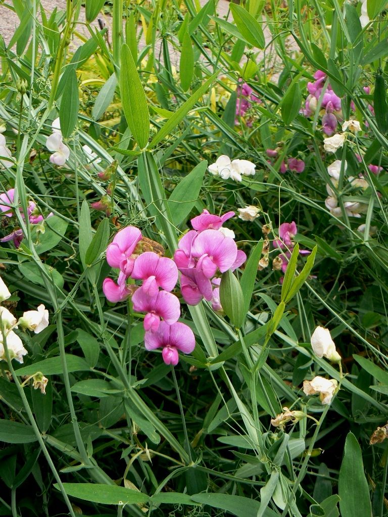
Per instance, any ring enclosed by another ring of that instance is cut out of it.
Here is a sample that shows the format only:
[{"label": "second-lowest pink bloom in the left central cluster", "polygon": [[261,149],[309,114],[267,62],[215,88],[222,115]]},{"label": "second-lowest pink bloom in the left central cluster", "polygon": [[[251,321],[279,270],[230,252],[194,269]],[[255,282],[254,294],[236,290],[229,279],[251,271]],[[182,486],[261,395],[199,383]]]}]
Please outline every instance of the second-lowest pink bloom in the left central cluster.
[{"label": "second-lowest pink bloom in the left central cluster", "polygon": [[159,328],[160,318],[172,325],[181,315],[181,304],[178,298],[167,291],[158,291],[156,296],[146,294],[138,289],[132,296],[133,310],[146,312],[144,329],[155,332]]}]

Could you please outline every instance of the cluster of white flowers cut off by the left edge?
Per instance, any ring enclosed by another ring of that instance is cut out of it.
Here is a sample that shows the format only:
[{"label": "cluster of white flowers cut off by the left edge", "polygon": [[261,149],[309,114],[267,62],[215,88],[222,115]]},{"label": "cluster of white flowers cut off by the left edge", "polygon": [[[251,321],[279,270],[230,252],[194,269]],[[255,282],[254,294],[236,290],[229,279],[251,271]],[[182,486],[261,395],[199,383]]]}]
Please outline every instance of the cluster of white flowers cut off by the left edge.
[{"label": "cluster of white flowers cut off by the left edge", "polygon": [[[4,280],[0,277],[0,302],[11,296]],[[27,354],[23,342],[13,329],[23,328],[33,330],[36,334],[49,325],[49,311],[40,305],[36,311],[26,311],[23,316],[17,318],[6,308],[0,307],[0,360],[7,360],[4,339],[11,359],[23,362],[23,356]]]}]

